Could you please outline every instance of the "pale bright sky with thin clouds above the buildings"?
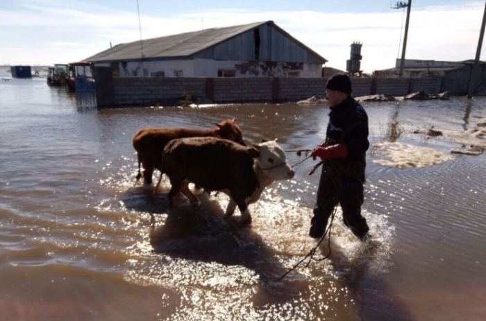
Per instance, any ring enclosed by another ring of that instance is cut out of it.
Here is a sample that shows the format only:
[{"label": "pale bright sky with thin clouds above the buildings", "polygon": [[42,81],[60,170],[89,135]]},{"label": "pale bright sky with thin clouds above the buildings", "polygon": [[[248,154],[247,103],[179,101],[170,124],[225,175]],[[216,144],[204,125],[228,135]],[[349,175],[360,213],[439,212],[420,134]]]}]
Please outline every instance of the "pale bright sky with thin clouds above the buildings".
[{"label": "pale bright sky with thin clouds above the buildings", "polygon": [[[361,67],[369,73],[394,67],[401,56],[406,10],[393,9],[395,3],[138,1],[143,39],[272,20],[326,58],[328,67],[346,69],[351,43],[362,42]],[[485,1],[412,1],[406,58],[474,59],[484,10]],[[76,62],[110,43],[139,39],[137,0],[0,0],[0,64]]]}]

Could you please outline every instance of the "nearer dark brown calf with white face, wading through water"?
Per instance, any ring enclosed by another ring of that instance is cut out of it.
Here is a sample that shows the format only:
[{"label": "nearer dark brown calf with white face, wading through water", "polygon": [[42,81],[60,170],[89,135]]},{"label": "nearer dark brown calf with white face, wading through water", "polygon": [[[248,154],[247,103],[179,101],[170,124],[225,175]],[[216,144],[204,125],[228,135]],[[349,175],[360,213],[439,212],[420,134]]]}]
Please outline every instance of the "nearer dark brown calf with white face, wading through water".
[{"label": "nearer dark brown calf with white face, wading through water", "polygon": [[193,182],[208,191],[228,194],[230,202],[225,217],[233,215],[238,206],[242,223],[251,223],[248,205],[260,198],[266,186],[294,177],[294,170],[276,140],[247,148],[212,137],[174,139],[165,146],[162,168],[172,185],[171,207],[176,205],[179,192],[192,203],[198,201],[187,186]]}]

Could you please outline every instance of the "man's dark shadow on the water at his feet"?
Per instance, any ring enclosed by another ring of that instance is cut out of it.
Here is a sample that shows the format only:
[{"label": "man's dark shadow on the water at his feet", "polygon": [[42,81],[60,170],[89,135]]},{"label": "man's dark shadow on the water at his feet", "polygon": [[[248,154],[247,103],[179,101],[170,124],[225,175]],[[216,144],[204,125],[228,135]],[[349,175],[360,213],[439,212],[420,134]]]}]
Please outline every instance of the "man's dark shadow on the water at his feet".
[{"label": "man's dark shadow on the water at his feet", "polygon": [[[327,245],[321,245],[320,250],[323,255],[327,254]],[[355,257],[349,257],[342,250],[333,248],[328,260],[333,270],[340,275],[343,286],[349,288],[361,320],[416,320],[410,308],[394,293],[383,275],[371,268],[379,251],[378,241],[371,240],[361,245]]]}]

